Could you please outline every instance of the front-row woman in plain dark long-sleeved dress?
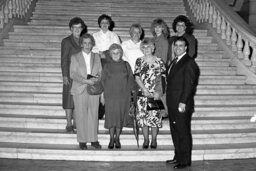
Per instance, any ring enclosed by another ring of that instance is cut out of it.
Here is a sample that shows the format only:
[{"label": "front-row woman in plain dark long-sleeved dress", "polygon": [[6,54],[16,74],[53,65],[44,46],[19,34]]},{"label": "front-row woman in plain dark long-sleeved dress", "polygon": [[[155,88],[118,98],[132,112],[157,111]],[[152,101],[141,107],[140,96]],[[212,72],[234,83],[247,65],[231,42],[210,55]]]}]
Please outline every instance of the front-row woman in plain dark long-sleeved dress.
[{"label": "front-row woman in plain dark long-sleeved dress", "polygon": [[123,50],[118,44],[109,48],[111,60],[104,65],[102,84],[105,101],[105,128],[109,129],[109,149],[121,148],[120,134],[127,126],[131,91],[135,86],[133,73],[128,62],[123,61]]}]

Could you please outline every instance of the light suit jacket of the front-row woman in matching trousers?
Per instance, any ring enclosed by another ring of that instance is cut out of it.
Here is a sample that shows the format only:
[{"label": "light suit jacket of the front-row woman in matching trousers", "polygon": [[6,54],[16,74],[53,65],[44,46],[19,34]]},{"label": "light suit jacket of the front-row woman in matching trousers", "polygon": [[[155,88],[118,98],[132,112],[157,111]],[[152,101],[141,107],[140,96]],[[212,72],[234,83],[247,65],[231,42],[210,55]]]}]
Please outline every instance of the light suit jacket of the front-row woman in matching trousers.
[{"label": "light suit jacket of the front-row woman in matching trousers", "polygon": [[[91,52],[90,62],[92,70],[91,75],[98,75],[100,77],[102,67],[99,54]],[[87,80],[87,69],[82,51],[71,57],[70,78],[73,79],[71,94],[82,94],[87,87],[87,84],[85,84],[85,80]]]}]

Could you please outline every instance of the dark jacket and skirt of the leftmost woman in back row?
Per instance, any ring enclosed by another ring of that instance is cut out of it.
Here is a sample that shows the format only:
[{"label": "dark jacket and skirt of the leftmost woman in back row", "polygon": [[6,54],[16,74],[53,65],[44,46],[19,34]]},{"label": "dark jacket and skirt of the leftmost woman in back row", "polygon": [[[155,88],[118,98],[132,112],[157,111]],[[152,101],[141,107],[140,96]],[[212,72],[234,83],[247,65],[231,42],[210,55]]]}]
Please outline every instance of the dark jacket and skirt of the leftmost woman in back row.
[{"label": "dark jacket and skirt of the leftmost woman in back row", "polygon": [[72,80],[69,75],[69,67],[71,62],[71,56],[75,53],[81,51],[81,47],[76,43],[73,35],[64,38],[61,42],[61,71],[63,77],[68,77],[68,85],[63,84],[62,91],[62,107],[63,109],[73,109],[74,101],[70,94],[70,89],[72,87]]}]

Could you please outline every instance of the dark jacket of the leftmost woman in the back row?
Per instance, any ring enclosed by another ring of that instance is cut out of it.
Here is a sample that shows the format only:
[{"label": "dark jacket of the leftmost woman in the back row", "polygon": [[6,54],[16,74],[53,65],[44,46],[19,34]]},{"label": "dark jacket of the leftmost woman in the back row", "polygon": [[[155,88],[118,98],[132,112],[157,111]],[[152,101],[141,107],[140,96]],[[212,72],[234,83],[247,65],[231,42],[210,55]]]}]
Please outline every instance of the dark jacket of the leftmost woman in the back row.
[{"label": "dark jacket of the leftmost woman in the back row", "polygon": [[73,35],[61,41],[61,70],[62,76],[69,78],[71,56],[81,51],[81,47],[75,42]]}]

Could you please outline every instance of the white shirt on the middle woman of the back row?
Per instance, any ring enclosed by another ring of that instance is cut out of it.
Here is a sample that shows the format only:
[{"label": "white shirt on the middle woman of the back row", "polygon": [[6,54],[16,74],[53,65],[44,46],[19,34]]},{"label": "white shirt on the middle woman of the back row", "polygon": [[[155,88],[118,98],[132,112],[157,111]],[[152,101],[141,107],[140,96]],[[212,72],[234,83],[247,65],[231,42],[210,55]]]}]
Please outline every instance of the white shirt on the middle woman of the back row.
[{"label": "white shirt on the middle woman of the back row", "polygon": [[134,72],[136,60],[144,56],[140,50],[140,44],[141,41],[134,43],[131,39],[122,43],[124,51],[123,60],[130,64],[132,72]]}]

